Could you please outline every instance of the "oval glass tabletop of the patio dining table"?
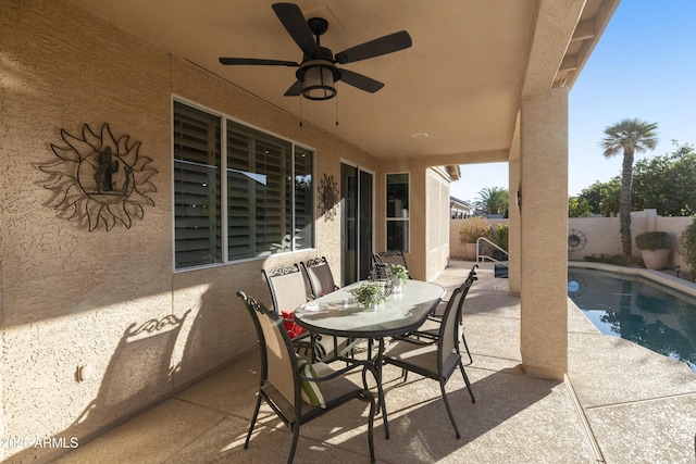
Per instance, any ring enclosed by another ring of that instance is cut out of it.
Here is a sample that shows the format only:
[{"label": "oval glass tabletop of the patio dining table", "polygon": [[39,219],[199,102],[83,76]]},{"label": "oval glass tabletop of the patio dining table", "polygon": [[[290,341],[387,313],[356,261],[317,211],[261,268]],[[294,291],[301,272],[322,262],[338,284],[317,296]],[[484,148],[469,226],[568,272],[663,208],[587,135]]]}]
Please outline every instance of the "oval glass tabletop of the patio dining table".
[{"label": "oval glass tabletop of the patio dining table", "polygon": [[375,309],[358,303],[351,290],[360,281],[332,291],[295,310],[295,321],[319,334],[378,339],[415,330],[445,294],[438,285],[409,280],[401,293],[391,293]]}]

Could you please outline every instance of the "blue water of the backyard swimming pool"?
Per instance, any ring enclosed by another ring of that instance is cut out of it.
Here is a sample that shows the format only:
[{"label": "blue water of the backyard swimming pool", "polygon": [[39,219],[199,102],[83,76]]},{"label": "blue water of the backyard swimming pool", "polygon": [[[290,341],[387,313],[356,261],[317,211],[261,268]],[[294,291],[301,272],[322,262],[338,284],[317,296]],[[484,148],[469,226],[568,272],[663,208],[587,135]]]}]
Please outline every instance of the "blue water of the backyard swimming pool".
[{"label": "blue water of the backyard swimming pool", "polygon": [[602,334],[683,361],[696,374],[696,297],[583,268],[569,268],[568,296]]}]

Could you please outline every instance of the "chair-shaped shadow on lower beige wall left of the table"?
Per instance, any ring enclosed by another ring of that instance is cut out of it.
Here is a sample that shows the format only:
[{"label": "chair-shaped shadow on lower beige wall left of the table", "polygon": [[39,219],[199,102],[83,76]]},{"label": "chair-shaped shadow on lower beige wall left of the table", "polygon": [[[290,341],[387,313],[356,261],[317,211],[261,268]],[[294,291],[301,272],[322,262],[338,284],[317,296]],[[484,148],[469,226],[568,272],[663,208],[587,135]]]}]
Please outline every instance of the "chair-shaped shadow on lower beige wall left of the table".
[{"label": "chair-shaped shadow on lower beige wall left of the table", "polygon": [[[261,281],[261,272],[254,271]],[[183,298],[190,297],[190,301],[178,304],[189,308],[181,317],[170,314],[132,323],[123,330],[94,400],[69,427],[49,436],[51,443],[45,448],[29,443],[3,462],[53,462],[76,448],[71,444],[87,443],[151,407],[221,367],[234,353],[257,349],[251,319],[241,312],[243,308],[239,313],[234,305],[231,308],[229,302],[237,304],[237,299],[231,300],[226,294],[229,286],[210,285],[201,293],[195,285],[190,288],[192,292]],[[239,347],[244,350],[239,351]],[[75,373],[75,381],[83,380],[79,375]]]}]

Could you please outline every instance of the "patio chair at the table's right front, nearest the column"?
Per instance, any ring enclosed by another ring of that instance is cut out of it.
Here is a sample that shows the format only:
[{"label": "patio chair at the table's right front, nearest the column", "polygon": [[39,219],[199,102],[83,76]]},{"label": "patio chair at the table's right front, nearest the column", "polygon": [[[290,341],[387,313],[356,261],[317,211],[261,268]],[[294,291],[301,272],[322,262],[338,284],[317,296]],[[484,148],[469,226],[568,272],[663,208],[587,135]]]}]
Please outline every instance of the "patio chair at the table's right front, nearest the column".
[{"label": "patio chair at the table's right front, nearest the column", "polygon": [[[418,340],[393,340],[389,348],[384,353],[384,362],[397,367],[401,367],[407,372],[420,374],[424,377],[437,380],[443,394],[445,407],[452,423],[457,438],[461,438],[455,416],[447,400],[445,385],[455,373],[457,367],[461,372],[467,389],[471,396],[471,402],[475,403],[474,393],[471,390],[471,383],[464,372],[464,365],[461,362],[461,353],[459,352],[459,308],[462,297],[461,289],[457,288],[452,292],[443,323],[439,327],[438,340],[436,343],[420,343]],[[406,381],[406,379],[405,379]]]}]

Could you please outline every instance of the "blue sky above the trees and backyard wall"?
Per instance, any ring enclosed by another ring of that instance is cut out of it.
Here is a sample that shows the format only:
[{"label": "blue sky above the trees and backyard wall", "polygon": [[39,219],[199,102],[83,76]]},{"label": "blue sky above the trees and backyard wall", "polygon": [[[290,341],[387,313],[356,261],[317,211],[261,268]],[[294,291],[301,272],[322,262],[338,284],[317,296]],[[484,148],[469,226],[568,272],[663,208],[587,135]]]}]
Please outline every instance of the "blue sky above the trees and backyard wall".
[{"label": "blue sky above the trees and backyard wall", "polygon": [[[604,130],[624,118],[657,123],[659,142],[645,156],[696,145],[696,0],[622,0],[570,90],[568,193],[621,174],[607,159]],[[508,186],[508,164],[461,165],[450,193],[474,201],[485,187]],[[496,180],[499,179],[499,180]]]}]

